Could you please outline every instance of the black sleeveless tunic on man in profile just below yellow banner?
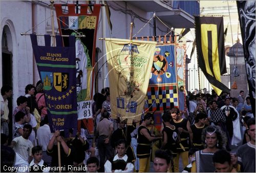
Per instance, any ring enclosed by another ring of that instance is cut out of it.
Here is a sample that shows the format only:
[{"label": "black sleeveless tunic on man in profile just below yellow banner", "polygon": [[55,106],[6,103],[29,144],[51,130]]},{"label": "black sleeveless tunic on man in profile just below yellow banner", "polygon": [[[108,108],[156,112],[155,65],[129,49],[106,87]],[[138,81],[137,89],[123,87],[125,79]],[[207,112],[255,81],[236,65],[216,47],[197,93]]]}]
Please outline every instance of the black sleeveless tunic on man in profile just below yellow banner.
[{"label": "black sleeveless tunic on man in profile just below yellow banner", "polygon": [[151,141],[149,141],[144,135],[140,133],[141,129],[146,129],[148,134],[150,130],[148,130],[145,126],[140,126],[138,129],[138,146],[137,146],[137,158],[147,158],[150,157],[151,153]]}]

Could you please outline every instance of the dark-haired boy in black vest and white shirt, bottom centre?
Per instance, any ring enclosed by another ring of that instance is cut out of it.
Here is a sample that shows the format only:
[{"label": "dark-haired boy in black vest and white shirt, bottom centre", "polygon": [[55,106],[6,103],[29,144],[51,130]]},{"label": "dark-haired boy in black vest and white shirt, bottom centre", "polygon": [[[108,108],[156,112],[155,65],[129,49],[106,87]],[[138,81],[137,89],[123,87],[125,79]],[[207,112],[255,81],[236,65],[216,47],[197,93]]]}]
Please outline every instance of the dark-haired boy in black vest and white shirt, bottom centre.
[{"label": "dark-haired boy in black vest and white shirt, bottom centre", "polygon": [[134,165],[125,154],[126,150],[127,142],[123,139],[118,140],[116,143],[117,155],[105,162],[105,172],[133,172]]}]

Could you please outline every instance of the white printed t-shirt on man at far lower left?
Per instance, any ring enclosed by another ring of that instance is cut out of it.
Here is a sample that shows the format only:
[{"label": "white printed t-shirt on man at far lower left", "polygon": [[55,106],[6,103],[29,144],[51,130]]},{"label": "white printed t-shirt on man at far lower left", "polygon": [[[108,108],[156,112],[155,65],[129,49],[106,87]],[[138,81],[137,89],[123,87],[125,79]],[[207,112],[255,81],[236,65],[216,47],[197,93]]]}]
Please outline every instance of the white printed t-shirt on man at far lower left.
[{"label": "white printed t-shirt on man at far lower left", "polygon": [[29,156],[32,155],[32,142],[28,139],[24,139],[23,136],[16,137],[13,140],[16,142],[13,150],[28,161]]}]

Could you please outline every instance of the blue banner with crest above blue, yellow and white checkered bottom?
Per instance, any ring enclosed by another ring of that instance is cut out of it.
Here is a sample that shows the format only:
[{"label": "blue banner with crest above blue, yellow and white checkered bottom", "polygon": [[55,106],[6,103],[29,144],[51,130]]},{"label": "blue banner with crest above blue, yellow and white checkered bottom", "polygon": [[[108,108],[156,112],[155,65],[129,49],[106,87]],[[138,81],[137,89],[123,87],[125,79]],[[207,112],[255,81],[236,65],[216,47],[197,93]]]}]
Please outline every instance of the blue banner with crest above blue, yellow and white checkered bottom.
[{"label": "blue banner with crest above blue, yellow and white checkered bottom", "polygon": [[175,45],[156,47],[145,112],[179,107]]}]

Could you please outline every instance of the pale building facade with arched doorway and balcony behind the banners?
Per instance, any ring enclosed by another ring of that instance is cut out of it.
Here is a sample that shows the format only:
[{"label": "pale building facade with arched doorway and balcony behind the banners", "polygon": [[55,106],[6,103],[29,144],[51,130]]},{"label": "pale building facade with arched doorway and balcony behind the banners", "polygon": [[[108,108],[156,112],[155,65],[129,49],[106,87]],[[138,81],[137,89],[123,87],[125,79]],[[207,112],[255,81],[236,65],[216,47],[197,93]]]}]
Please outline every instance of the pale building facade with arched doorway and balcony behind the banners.
[{"label": "pale building facade with arched doorway and balcony behind the banners", "polygon": [[[54,1],[55,4],[75,4],[76,1]],[[86,3],[86,1],[79,1]],[[94,1],[101,4],[102,1]],[[105,7],[101,7],[97,38],[130,37],[130,23],[134,22],[133,35],[153,36],[153,20],[148,22],[156,13],[163,22],[156,20],[156,35],[165,35],[170,28],[193,28],[194,17],[184,10],[173,8],[178,1],[108,1],[113,25],[110,30],[106,18]],[[197,3],[197,2],[196,2]],[[29,35],[20,33],[52,34],[58,32],[55,10],[53,11],[54,26],[51,21],[50,1],[0,1],[1,6],[1,50],[0,55],[0,86],[4,84],[13,87],[12,108],[16,107],[16,99],[25,94],[28,84],[36,84],[39,75],[33,58],[32,45]],[[197,5],[197,4],[196,4]],[[199,4],[197,5],[199,7]],[[64,8],[64,7],[63,7]],[[143,28],[143,29],[142,29]],[[140,31],[141,30],[141,31]],[[140,32],[139,32],[140,31]],[[44,45],[44,37],[38,38],[38,45]],[[97,89],[108,87],[106,77],[105,43],[96,41],[98,80]],[[102,67],[101,67],[102,66]],[[101,68],[100,68],[101,67]],[[97,92],[97,91],[96,91]]]}]

